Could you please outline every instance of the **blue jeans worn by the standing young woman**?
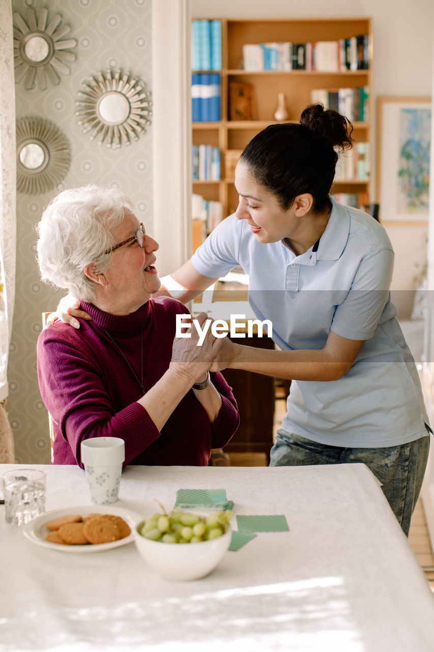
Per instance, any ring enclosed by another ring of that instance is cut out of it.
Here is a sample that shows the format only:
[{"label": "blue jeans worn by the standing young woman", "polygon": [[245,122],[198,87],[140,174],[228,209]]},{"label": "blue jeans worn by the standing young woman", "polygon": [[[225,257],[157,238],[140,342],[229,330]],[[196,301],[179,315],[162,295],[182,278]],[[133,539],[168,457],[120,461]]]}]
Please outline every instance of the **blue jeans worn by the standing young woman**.
[{"label": "blue jeans worn by the standing young woman", "polygon": [[366,464],[383,485],[384,496],[408,537],[411,516],[424,479],[428,451],[429,436],[400,446],[362,449],[328,446],[278,430],[276,443],[270,452],[270,466]]}]

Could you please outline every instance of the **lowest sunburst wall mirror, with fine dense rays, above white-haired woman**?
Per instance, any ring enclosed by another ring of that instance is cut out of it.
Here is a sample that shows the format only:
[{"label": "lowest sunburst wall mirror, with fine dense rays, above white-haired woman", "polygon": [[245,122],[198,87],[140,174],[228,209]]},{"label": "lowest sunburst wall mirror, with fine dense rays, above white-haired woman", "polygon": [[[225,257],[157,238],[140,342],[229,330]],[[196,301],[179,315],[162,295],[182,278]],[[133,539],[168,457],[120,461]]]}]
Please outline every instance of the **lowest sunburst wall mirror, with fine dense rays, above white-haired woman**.
[{"label": "lowest sunburst wall mirror, with fine dense rays, above white-haired woman", "polygon": [[16,123],[18,192],[40,195],[65,178],[71,151],[65,134],[50,120],[21,118]]}]

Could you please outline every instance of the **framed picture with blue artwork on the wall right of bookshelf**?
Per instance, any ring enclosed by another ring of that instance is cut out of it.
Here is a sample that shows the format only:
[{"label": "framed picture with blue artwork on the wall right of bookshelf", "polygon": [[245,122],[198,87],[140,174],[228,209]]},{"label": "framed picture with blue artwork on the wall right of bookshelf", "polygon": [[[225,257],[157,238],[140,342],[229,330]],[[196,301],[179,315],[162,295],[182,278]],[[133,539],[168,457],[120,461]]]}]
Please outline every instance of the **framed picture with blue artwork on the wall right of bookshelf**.
[{"label": "framed picture with blue artwork on the wall right of bookshelf", "polygon": [[430,97],[377,99],[377,203],[381,222],[428,220]]}]

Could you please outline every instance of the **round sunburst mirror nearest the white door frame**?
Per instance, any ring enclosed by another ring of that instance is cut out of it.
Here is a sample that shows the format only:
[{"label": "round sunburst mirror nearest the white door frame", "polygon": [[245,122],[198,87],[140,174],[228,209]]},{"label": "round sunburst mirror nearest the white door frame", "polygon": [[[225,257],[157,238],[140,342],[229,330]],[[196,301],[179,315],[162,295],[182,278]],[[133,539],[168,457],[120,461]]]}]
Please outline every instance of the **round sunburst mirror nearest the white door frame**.
[{"label": "round sunburst mirror nearest the white door frame", "polygon": [[91,133],[91,140],[98,139],[98,145],[111,149],[130,145],[151,124],[151,93],[131,73],[111,68],[91,76],[82,87],[76,100],[78,124],[83,133]]}]

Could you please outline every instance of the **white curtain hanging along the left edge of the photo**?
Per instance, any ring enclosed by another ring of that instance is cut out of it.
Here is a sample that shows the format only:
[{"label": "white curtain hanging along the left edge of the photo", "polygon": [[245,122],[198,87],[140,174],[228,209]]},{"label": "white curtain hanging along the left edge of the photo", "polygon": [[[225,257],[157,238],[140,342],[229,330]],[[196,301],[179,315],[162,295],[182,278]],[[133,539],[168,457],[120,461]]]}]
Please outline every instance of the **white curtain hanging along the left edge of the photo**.
[{"label": "white curtain hanging along the left edge of the photo", "polygon": [[14,462],[5,411],[7,364],[15,296],[16,138],[12,5],[0,2],[0,464]]}]

